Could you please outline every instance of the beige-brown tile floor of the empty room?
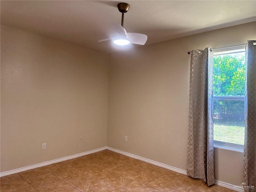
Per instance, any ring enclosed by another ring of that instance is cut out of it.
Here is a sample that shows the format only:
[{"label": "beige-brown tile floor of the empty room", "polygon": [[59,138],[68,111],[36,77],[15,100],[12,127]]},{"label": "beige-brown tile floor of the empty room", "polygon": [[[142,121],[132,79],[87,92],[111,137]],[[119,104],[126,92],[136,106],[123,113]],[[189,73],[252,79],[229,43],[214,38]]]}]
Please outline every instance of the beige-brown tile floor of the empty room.
[{"label": "beige-brown tile floor of the empty room", "polygon": [[0,178],[1,192],[235,192],[110,150]]}]

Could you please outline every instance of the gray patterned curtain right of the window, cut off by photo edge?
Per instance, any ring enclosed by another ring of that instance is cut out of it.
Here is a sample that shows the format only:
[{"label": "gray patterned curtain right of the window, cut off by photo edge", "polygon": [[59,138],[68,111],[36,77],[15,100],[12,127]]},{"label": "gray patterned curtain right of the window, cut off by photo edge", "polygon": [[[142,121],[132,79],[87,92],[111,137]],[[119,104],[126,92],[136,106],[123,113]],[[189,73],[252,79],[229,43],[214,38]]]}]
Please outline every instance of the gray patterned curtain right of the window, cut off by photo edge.
[{"label": "gray patterned curtain right of the window, cut off by photo edge", "polygon": [[256,41],[246,45],[244,189],[256,192]]}]

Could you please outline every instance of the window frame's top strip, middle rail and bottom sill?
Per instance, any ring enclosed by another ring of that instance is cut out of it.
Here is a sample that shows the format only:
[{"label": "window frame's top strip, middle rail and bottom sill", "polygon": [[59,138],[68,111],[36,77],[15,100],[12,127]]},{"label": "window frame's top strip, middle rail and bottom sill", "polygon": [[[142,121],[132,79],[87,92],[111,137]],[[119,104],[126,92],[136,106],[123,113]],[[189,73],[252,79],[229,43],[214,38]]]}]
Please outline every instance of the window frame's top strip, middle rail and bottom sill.
[{"label": "window frame's top strip, middle rail and bottom sill", "polygon": [[[214,56],[245,52],[245,48],[215,52]],[[244,100],[244,96],[214,96],[214,100]],[[213,140],[214,148],[244,152],[244,145]]]}]

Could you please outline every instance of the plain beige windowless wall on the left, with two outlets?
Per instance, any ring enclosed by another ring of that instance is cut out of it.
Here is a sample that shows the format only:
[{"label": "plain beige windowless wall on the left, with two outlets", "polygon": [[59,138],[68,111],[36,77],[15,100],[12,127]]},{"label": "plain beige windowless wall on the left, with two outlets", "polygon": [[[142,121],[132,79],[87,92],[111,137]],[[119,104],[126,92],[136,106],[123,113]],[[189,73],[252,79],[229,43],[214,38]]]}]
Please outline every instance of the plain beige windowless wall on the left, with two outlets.
[{"label": "plain beige windowless wall on the left, with two outlets", "polygon": [[107,104],[108,54],[1,26],[1,172],[106,146]]}]

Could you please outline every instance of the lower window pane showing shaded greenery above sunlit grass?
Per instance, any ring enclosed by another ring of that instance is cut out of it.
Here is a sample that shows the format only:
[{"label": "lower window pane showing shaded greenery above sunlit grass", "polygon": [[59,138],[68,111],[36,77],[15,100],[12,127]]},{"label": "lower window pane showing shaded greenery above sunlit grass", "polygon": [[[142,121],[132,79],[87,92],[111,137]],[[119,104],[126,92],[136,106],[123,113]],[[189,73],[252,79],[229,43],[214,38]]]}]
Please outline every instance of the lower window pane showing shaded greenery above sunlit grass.
[{"label": "lower window pane showing shaded greenery above sunlit grass", "polygon": [[214,140],[244,144],[244,100],[214,100]]}]

